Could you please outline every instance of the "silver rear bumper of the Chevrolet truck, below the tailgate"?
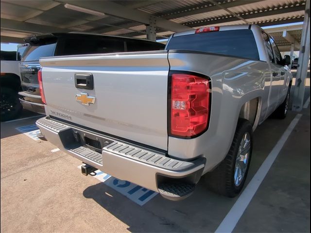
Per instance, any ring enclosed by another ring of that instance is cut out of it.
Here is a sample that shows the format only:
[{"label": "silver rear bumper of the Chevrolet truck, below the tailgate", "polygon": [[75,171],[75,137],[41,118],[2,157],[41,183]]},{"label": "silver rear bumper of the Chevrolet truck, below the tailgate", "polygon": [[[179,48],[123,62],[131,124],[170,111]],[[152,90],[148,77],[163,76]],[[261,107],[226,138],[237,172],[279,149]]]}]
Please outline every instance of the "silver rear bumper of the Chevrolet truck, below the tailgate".
[{"label": "silver rear bumper of the Chevrolet truck, below the tailgate", "polygon": [[[191,162],[176,160],[161,152],[90,132],[49,117],[38,119],[36,125],[48,141],[83,163],[156,192],[163,182],[178,181],[195,185],[206,162],[205,158]],[[86,145],[85,138],[101,142],[101,153],[91,150]]]}]

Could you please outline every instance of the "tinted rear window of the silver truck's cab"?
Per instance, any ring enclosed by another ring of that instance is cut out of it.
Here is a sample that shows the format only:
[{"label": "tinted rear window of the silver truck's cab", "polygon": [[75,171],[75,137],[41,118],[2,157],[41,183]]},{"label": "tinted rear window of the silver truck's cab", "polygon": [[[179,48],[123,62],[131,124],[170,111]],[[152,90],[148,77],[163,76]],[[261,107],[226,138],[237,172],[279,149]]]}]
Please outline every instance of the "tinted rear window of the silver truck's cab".
[{"label": "tinted rear window of the silver truck's cab", "polygon": [[197,33],[172,37],[167,50],[194,50],[259,60],[254,34],[249,29]]}]

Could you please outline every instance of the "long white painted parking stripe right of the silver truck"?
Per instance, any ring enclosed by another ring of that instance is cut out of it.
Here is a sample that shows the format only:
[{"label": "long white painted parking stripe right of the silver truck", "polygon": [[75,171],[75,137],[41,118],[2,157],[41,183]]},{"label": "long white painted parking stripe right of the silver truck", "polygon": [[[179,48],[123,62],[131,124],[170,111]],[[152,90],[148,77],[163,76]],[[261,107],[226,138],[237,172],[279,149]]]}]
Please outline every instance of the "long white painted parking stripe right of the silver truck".
[{"label": "long white painted parking stripe right of the silver truck", "polygon": [[301,116],[301,114],[297,114],[292,120],[291,124],[287,127],[286,131],[276,143],[276,146],[271,150],[268,157],[259,167],[252,180],[248,183],[238,200],[234,203],[228,214],[225,216],[224,220],[217,228],[216,233],[231,233],[233,231],[249,202],[255,195],[260,183],[268,173],[270,167],[276,159],[276,156],[284,146],[287,138],[294,130],[294,127],[296,126]]}]

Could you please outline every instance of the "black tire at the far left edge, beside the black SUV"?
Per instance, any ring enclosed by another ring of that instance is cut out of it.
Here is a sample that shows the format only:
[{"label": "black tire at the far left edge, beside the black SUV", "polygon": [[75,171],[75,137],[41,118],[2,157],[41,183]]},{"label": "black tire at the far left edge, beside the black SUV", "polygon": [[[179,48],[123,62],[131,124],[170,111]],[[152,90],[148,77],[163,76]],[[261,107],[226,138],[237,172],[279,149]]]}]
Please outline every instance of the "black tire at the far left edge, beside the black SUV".
[{"label": "black tire at the far left edge, beside the black SUV", "polygon": [[17,91],[9,87],[1,87],[1,121],[13,120],[20,116],[22,105],[18,100]]}]

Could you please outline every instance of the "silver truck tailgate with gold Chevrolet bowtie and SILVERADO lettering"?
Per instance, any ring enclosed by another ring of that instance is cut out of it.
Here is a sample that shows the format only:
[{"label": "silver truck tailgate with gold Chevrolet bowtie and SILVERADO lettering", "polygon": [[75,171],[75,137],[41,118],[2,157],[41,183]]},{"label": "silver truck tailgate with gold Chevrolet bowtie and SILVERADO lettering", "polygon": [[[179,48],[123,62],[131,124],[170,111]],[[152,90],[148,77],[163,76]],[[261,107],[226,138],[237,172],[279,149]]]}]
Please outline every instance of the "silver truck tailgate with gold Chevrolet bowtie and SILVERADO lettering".
[{"label": "silver truck tailgate with gold Chevrolet bowtie and SILVERADO lettering", "polygon": [[[53,57],[40,64],[48,116],[167,150],[167,51]],[[76,88],[77,73],[92,74],[94,88]],[[81,93],[95,102],[77,101]]]}]

